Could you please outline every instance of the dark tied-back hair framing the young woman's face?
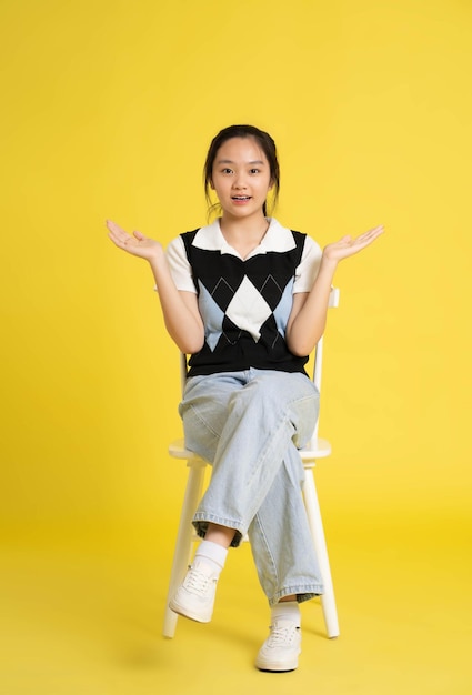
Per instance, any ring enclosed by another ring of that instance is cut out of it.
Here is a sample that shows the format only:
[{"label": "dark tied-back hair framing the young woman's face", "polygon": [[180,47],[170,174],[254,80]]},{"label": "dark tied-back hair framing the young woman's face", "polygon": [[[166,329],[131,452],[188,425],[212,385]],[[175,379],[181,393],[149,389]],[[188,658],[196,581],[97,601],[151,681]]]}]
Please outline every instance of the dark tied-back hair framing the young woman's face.
[{"label": "dark tied-back hair framing the young woman's face", "polygon": [[[230,140],[231,138],[253,138],[265,154],[270,168],[272,181],[272,208],[274,208],[280,190],[280,168],[279,160],[277,158],[275,142],[269,133],[265,133],[263,130],[259,130],[255,125],[229,125],[228,128],[220,130],[218,135],[215,135],[211,141],[203,168],[204,194],[209,204],[209,214],[211,214],[214,208],[218,208],[218,203],[212,204],[210,197],[213,163],[218,150],[227,140]],[[267,201],[262,207],[262,212],[267,215]]]}]

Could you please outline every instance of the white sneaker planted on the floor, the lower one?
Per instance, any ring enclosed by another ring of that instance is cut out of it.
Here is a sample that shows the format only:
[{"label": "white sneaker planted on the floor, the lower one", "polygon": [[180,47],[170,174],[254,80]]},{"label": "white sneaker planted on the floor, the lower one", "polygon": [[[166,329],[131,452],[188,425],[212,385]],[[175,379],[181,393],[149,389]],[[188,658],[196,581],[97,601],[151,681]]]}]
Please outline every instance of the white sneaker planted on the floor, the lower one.
[{"label": "white sneaker planted on the floor, the lower one", "polygon": [[260,671],[294,671],[299,665],[302,635],[292,621],[277,618],[259,649],[255,667]]}]

